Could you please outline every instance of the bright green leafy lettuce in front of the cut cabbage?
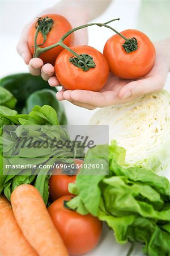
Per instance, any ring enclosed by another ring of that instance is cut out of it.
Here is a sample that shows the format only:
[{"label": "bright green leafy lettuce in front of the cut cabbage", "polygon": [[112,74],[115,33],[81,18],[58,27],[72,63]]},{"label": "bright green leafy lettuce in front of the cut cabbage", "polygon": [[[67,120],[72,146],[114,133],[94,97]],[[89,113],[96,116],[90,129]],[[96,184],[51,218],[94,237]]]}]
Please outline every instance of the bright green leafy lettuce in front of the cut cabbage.
[{"label": "bright green leafy lettuce in front of the cut cabbage", "polygon": [[[109,147],[109,159],[107,152]],[[103,158],[96,159],[103,152]],[[125,150],[113,141],[111,146],[90,149],[84,163],[103,163],[105,172],[82,169],[69,191],[76,195],[67,206],[107,222],[118,243],[142,242],[149,256],[169,255],[170,184],[151,170],[124,168]]]}]

